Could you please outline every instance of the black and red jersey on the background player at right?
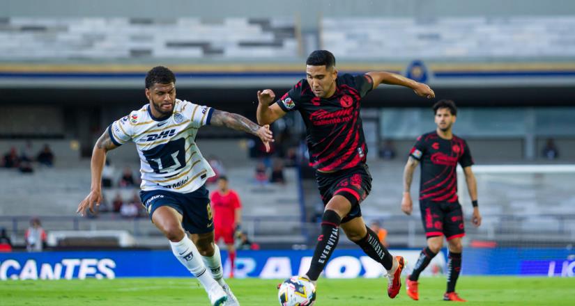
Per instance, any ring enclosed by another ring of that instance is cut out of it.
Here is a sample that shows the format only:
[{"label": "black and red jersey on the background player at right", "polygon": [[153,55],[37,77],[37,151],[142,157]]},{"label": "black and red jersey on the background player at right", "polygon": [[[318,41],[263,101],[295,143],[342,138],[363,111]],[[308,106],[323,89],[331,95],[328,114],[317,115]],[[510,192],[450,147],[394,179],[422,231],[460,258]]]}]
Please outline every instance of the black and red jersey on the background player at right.
[{"label": "black and red jersey on the background player at right", "polygon": [[455,135],[443,139],[432,131],[417,138],[410,155],[421,163],[420,200],[457,202],[457,163],[473,165],[466,141]]}]

